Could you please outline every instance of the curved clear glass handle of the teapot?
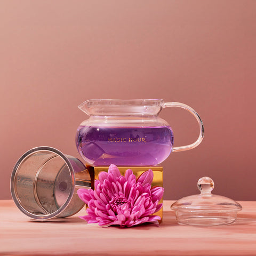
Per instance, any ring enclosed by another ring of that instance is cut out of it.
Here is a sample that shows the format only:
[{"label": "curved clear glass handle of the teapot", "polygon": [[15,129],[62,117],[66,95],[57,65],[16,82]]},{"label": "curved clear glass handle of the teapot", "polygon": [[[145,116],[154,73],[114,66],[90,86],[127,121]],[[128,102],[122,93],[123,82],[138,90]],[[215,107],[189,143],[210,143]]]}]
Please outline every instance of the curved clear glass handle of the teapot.
[{"label": "curved clear glass handle of the teapot", "polygon": [[188,110],[196,118],[196,120],[199,124],[199,129],[200,129],[199,137],[194,143],[186,145],[186,146],[173,147],[172,152],[186,151],[186,150],[193,149],[193,148],[197,147],[202,142],[202,140],[204,138],[204,125],[203,125],[201,117],[196,113],[196,111],[193,108],[189,107],[186,104],[180,103],[180,102],[164,103],[164,108],[168,108],[168,107],[179,107],[179,108]]}]

